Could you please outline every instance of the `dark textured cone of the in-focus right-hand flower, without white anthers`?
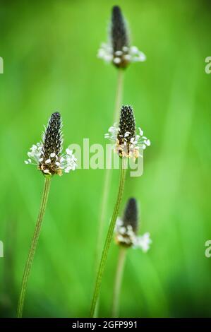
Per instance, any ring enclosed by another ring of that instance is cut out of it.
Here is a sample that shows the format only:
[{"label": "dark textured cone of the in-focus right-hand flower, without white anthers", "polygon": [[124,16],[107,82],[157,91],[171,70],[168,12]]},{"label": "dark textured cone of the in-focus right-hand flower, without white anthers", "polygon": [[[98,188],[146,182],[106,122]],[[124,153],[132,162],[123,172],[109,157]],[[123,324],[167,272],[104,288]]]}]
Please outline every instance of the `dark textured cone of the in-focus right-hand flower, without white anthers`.
[{"label": "dark textured cone of the in-focus right-hand flower, without white anthers", "polygon": [[[130,152],[131,140],[135,140],[135,117],[131,106],[122,106],[119,120],[118,143],[128,155]],[[119,153],[123,155],[123,153]]]}]

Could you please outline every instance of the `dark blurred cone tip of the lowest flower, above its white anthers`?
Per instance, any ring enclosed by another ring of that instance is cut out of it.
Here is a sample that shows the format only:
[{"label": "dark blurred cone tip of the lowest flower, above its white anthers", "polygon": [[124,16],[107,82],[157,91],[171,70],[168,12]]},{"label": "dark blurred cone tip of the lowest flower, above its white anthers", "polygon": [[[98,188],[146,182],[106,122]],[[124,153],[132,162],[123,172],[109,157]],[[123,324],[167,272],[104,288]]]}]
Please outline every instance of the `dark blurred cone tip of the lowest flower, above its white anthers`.
[{"label": "dark blurred cone tip of the lowest flower, above its white anthers", "polygon": [[126,208],[123,214],[123,226],[131,225],[133,232],[138,231],[138,204],[135,198],[128,199]]}]

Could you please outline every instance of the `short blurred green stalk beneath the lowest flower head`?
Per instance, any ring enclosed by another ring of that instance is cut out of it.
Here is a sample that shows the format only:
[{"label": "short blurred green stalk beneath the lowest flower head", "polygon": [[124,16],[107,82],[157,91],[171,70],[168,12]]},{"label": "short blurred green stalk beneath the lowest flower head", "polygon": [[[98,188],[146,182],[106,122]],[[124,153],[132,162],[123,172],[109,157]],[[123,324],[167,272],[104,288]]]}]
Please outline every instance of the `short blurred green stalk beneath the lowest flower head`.
[{"label": "short blurred green stalk beneath the lowest flower head", "polygon": [[119,259],[116,268],[116,277],[114,282],[114,297],[113,297],[113,308],[112,317],[119,316],[119,295],[121,290],[121,280],[123,276],[123,268],[126,260],[126,248],[120,247],[119,249]]}]

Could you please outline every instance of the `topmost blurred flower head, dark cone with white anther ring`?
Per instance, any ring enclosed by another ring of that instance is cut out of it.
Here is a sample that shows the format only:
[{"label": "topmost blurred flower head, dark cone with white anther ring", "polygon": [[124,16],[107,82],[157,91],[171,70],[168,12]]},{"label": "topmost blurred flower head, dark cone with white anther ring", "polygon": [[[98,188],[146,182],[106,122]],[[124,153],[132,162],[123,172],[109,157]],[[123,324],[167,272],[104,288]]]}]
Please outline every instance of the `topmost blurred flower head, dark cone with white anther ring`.
[{"label": "topmost blurred flower head, dark cone with white anther ring", "polygon": [[102,44],[98,57],[106,62],[112,62],[117,68],[126,68],[131,62],[146,59],[145,54],[137,47],[130,46],[128,28],[119,6],[112,8],[109,42]]}]

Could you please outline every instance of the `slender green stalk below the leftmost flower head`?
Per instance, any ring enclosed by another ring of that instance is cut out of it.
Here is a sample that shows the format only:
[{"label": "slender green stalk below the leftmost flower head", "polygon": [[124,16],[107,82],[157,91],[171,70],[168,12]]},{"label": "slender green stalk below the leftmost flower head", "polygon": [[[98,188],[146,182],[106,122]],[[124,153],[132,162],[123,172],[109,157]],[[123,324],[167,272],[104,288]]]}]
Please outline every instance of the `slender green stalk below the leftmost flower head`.
[{"label": "slender green stalk below the leftmost flower head", "polygon": [[22,280],[22,285],[21,285],[21,289],[20,289],[20,297],[18,300],[18,310],[17,310],[17,316],[18,318],[22,317],[23,314],[23,305],[24,305],[24,300],[25,300],[25,292],[26,292],[26,288],[27,288],[27,284],[28,284],[28,278],[30,275],[30,270],[32,267],[32,262],[35,256],[35,250],[37,248],[37,242],[40,236],[40,230],[41,230],[41,226],[42,226],[42,220],[43,220],[43,216],[44,216],[44,211],[45,208],[47,206],[47,199],[49,196],[49,189],[50,189],[50,184],[51,184],[51,176],[45,176],[44,177],[44,189],[43,189],[43,193],[42,193],[42,201],[41,201],[41,206],[40,206],[40,212],[37,218],[37,223],[35,226],[35,232],[34,235],[32,237],[32,243],[31,243],[31,247],[30,247],[30,251],[28,254],[28,259],[25,263],[25,269],[24,269],[24,273],[23,273],[23,280]]}]

